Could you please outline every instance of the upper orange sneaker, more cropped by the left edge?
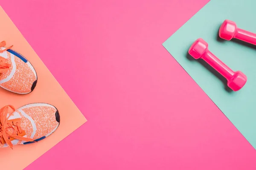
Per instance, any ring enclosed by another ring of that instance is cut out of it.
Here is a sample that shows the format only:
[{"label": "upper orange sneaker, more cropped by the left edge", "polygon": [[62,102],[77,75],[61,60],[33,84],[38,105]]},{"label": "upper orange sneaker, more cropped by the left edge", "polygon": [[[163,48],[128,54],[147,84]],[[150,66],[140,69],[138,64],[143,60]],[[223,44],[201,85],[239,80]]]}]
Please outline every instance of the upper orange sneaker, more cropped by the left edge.
[{"label": "upper orange sneaker, more cropped by the left edge", "polygon": [[35,69],[21,54],[0,42],[0,87],[17,94],[32,92],[37,83]]}]

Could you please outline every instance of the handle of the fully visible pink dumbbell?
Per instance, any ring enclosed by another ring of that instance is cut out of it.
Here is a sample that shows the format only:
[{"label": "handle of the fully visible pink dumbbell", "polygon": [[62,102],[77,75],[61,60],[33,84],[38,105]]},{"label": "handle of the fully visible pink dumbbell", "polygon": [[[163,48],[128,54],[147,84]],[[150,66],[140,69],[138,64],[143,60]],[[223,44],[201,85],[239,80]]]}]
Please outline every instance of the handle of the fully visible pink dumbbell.
[{"label": "handle of the fully visible pink dumbbell", "polygon": [[216,71],[218,71],[222,76],[226,79],[232,79],[233,75],[235,74],[233,70],[231,70],[224,62],[218,59],[211,51],[207,50],[205,54],[201,57],[211,65]]}]

